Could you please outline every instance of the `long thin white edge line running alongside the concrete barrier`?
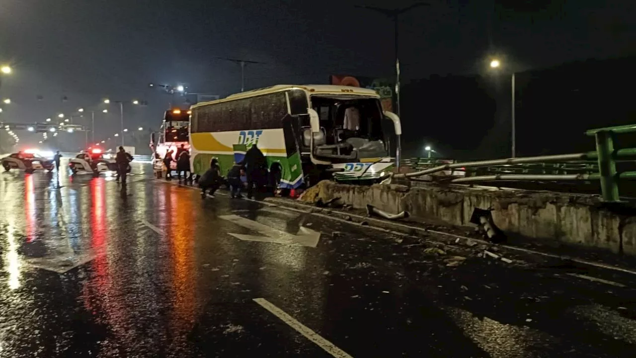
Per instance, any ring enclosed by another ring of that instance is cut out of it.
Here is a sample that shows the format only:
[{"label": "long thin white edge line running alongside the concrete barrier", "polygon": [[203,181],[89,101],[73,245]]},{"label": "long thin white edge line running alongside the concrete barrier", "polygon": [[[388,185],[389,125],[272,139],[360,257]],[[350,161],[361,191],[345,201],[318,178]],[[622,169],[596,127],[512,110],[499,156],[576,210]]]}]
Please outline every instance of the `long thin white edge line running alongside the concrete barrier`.
[{"label": "long thin white edge line running alongside the concrete barrier", "polygon": [[[309,209],[313,209],[314,208],[314,206],[309,206],[309,205],[306,205],[306,204],[300,204],[300,203],[296,203],[296,204],[298,204],[299,206],[305,206],[306,208],[309,208]],[[291,210],[291,207],[285,206],[284,204],[280,204],[280,206],[282,208],[286,208],[286,209],[290,209]],[[305,212],[305,213],[309,213],[311,215],[317,215],[317,216],[324,216],[324,217],[328,217],[328,218],[333,218],[333,217],[330,217],[329,215],[313,213],[313,212],[310,212],[310,211],[304,211],[304,210],[297,209],[297,208],[294,208],[294,210],[298,210],[298,211],[302,211],[302,212]],[[343,213],[342,211],[336,211],[336,210],[334,210],[334,212],[338,212],[338,213],[340,213],[342,215],[346,214],[346,215],[349,215],[350,217],[362,218],[364,220],[368,220],[369,222],[373,222],[373,221],[383,222],[383,220],[379,220],[377,218],[363,217],[361,215],[356,215],[354,213]],[[350,224],[355,224],[355,223],[350,223]],[[480,240],[480,239],[477,239],[477,238],[467,238],[466,236],[456,235],[456,234],[453,234],[453,233],[444,233],[442,231],[429,230],[429,229],[425,229],[424,227],[410,226],[410,225],[406,225],[406,224],[401,224],[399,222],[391,222],[390,224],[391,225],[395,225],[395,226],[406,227],[406,228],[411,229],[413,231],[420,231],[422,233],[441,234],[441,235],[445,235],[445,236],[452,236],[453,238],[462,238],[462,239],[467,239],[467,240],[471,240],[471,241],[476,241],[476,242],[482,243],[482,244],[488,244],[488,245],[491,244],[488,241]],[[373,229],[378,229],[378,227],[374,227],[374,226],[369,226],[369,227],[372,227]],[[380,228],[380,229],[382,229],[382,228]],[[387,229],[382,229],[382,230],[390,231],[390,230],[387,230]],[[553,259],[569,260],[569,261],[572,261],[572,262],[577,262],[579,264],[595,266],[597,268],[611,269],[611,270],[614,270],[614,271],[621,271],[621,272],[624,272],[624,273],[630,273],[632,275],[636,275],[636,271],[633,271],[633,270],[630,270],[630,269],[625,269],[625,268],[620,268],[618,266],[611,266],[609,264],[604,264],[602,262],[588,261],[588,260],[584,260],[584,259],[578,259],[576,257],[570,257],[570,256],[567,256],[567,255],[548,254],[547,252],[540,252],[540,251],[530,250],[529,248],[523,248],[523,247],[514,247],[514,246],[509,246],[509,245],[499,245],[499,246],[501,246],[503,248],[509,248],[510,250],[527,252],[528,254],[542,255],[542,256],[546,256],[546,257],[552,257]]]}]

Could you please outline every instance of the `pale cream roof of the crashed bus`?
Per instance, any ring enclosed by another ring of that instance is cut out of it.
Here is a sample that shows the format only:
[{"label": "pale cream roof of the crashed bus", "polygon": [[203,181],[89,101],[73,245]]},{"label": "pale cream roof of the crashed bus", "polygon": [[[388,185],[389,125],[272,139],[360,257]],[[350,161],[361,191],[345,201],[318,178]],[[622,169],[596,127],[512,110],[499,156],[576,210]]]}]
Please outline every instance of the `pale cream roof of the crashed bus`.
[{"label": "pale cream roof of the crashed bus", "polygon": [[196,108],[199,106],[205,106],[207,104],[212,103],[221,103],[225,101],[233,101],[234,99],[242,99],[249,97],[261,96],[263,94],[270,94],[273,92],[279,92],[282,90],[291,90],[291,89],[302,89],[310,92],[311,94],[323,94],[323,95],[339,95],[343,94],[347,96],[364,96],[364,97],[373,97],[380,98],[378,92],[372,89],[364,89],[361,87],[350,87],[350,86],[336,86],[336,85],[275,85],[271,87],[265,87],[263,89],[255,89],[249,90],[247,92],[240,92],[237,94],[231,94],[225,98],[216,99],[215,101],[202,102],[194,104],[191,108]]}]

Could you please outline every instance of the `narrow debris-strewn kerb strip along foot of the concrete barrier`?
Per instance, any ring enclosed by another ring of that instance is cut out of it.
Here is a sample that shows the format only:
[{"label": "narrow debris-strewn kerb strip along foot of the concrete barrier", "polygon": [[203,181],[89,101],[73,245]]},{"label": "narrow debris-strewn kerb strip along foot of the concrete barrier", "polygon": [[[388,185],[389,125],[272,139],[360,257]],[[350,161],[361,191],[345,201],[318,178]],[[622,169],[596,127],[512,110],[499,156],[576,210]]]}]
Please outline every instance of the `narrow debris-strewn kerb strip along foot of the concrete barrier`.
[{"label": "narrow debris-strewn kerb strip along foot of the concrete barrier", "polygon": [[[488,245],[488,247],[497,246],[507,250],[522,252],[524,254],[542,255],[545,257],[551,257],[553,259],[559,259],[562,261],[572,261],[572,262],[577,262],[579,264],[595,266],[597,268],[609,269],[612,271],[620,271],[623,273],[636,275],[636,271],[632,269],[623,268],[621,266],[612,266],[610,264],[605,264],[604,262],[590,261],[587,259],[568,256],[568,255],[556,255],[556,254],[551,254],[549,252],[543,252],[540,250],[531,250],[529,248],[515,247],[511,245],[502,245],[502,244],[497,245],[485,240],[481,240],[479,238],[470,238],[470,237],[459,235],[459,234],[445,233],[443,231],[431,230],[426,227],[413,226],[413,224],[408,225],[402,222],[390,222],[390,221],[382,220],[379,218],[364,217],[362,215],[357,215],[355,213],[347,213],[346,211],[341,211],[334,208],[316,208],[313,205],[304,204],[293,199],[284,199],[280,197],[268,197],[265,199],[263,203],[269,206],[293,208],[295,210],[303,211],[308,214],[320,213],[322,215],[328,215],[330,217],[335,217],[340,220],[351,222],[352,224],[360,225],[363,222],[367,222],[368,224],[371,224],[372,226],[375,226],[375,227],[379,227],[380,229],[384,229],[386,231],[394,231],[394,232],[405,234],[405,235],[418,236],[418,234],[440,234],[443,237],[448,238],[445,244],[449,244],[449,245],[462,245],[462,246],[466,246],[467,248],[474,248],[475,243],[478,243],[481,245]],[[506,260],[509,260],[509,259],[506,259]],[[506,260],[503,260],[503,261],[508,262]]]}]

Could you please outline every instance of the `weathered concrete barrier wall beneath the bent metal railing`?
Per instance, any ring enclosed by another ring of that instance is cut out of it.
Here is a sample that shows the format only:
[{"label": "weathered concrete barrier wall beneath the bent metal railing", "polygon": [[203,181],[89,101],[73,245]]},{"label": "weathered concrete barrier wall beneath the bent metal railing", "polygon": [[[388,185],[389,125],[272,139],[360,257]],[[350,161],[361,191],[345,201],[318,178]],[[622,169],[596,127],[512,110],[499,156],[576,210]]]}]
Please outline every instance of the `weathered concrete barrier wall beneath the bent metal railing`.
[{"label": "weathered concrete barrier wall beneath the bent metal railing", "polygon": [[636,255],[636,210],[605,206],[598,196],[462,185],[410,188],[327,181],[313,190],[308,201],[340,197],[354,208],[370,204],[391,213],[407,210],[412,217],[454,226],[473,226],[469,222],[473,209],[490,208],[495,225],[509,236]]}]

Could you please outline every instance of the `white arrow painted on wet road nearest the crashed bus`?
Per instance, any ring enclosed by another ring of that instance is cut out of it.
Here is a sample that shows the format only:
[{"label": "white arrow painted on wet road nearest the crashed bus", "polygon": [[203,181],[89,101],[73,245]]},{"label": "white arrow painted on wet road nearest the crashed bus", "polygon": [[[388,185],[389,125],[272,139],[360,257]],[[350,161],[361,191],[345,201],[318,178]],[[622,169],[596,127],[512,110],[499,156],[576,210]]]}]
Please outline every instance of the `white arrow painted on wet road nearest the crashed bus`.
[{"label": "white arrow painted on wet road nearest the crashed bus", "polygon": [[318,245],[318,240],[320,240],[321,233],[312,229],[308,229],[307,227],[301,226],[300,229],[298,229],[298,234],[294,235],[279,229],[274,229],[273,227],[266,226],[254,220],[249,220],[249,218],[240,217],[238,215],[222,215],[219,216],[219,218],[228,220],[230,222],[233,222],[234,224],[237,224],[238,226],[245,227],[252,231],[258,231],[258,233],[265,235],[256,236],[228,233],[235,238],[243,241],[259,241],[265,243],[281,243],[286,245],[316,247]]}]

